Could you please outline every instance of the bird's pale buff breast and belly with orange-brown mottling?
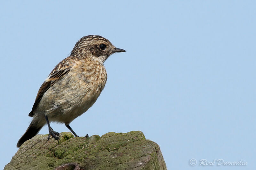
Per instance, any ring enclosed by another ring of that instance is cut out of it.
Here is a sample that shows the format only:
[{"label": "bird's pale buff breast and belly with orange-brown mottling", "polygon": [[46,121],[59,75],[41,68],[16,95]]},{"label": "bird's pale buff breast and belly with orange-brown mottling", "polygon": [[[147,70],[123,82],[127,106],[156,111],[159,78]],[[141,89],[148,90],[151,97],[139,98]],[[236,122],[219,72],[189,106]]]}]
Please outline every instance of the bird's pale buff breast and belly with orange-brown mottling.
[{"label": "bird's pale buff breast and belly with orange-brown mottling", "polygon": [[106,81],[104,65],[80,63],[46,92],[42,111],[47,110],[52,121],[71,122],[92,107]]}]

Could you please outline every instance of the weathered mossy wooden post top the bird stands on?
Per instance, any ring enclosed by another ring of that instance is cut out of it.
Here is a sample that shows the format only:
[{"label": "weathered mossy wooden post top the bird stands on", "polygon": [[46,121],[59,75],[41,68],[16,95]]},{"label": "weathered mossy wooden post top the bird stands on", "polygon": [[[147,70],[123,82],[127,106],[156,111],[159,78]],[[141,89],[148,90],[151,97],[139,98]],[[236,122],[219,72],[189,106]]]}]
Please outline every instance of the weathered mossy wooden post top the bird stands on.
[{"label": "weathered mossy wooden post top the bird stands on", "polygon": [[21,145],[4,169],[53,169],[78,163],[81,169],[166,169],[159,146],[141,131],[109,132],[101,137],[60,133],[60,141],[37,135]]}]

